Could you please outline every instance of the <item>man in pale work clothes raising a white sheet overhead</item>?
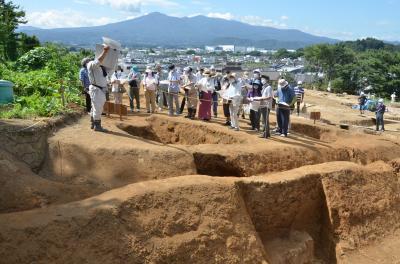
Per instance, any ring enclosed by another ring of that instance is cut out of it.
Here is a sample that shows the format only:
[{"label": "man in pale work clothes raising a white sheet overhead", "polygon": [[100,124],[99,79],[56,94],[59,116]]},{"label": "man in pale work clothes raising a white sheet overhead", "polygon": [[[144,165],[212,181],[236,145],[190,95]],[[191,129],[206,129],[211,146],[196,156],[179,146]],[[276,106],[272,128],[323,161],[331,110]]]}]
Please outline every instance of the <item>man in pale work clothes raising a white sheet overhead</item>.
[{"label": "man in pale work clothes raising a white sheet overhead", "polygon": [[104,103],[106,102],[105,93],[107,90],[107,71],[101,64],[109,50],[110,47],[104,45],[103,52],[100,54],[99,58],[87,64],[90,80],[89,94],[92,100],[91,128],[98,132],[107,132],[107,130],[101,126],[101,114],[103,113]]}]

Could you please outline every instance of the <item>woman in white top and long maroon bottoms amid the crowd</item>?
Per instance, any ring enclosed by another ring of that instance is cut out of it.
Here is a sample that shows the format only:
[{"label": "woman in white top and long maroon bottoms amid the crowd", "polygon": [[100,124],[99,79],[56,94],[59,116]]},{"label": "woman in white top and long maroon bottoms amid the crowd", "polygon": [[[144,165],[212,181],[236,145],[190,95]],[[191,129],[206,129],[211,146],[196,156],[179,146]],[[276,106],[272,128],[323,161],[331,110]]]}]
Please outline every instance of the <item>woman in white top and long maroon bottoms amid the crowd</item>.
[{"label": "woman in white top and long maroon bottoms amid the crowd", "polygon": [[211,80],[210,70],[205,70],[203,76],[204,77],[197,83],[200,98],[199,119],[203,121],[210,121],[214,83]]}]

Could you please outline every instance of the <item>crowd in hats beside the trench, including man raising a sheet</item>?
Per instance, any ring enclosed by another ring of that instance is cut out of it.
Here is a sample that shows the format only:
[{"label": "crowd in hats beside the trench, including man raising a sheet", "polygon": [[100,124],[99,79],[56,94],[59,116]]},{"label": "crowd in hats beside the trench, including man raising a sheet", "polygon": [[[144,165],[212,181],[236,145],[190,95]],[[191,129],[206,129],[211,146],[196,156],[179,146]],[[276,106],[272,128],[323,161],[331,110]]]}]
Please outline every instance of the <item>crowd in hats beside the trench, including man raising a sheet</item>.
[{"label": "crowd in hats beside the trench, including man raising a sheet", "polygon": [[[128,93],[131,111],[140,111],[140,88],[144,89],[147,113],[168,109],[170,116],[180,115],[187,107],[186,118],[198,118],[210,121],[218,117],[219,103],[222,102],[225,125],[239,131],[239,117],[249,115],[251,129],[261,132],[261,137],[268,138],[270,134],[269,114],[275,107],[277,116],[276,134],[286,137],[290,122],[290,114],[297,102],[297,113],[304,99],[302,83],[292,88],[289,83],[280,79],[274,91],[268,76],[262,75],[256,69],[253,76],[245,72],[241,77],[235,73],[218,73],[214,67],[197,69],[185,67],[183,72],[170,65],[168,73],[161,66],[147,67],[140,73],[132,66],[124,73],[121,66],[107,76],[102,61],[107,55],[108,47],[95,60],[84,59],[80,71],[80,80],[86,95],[86,110],[91,116],[91,127],[95,131],[106,131],[101,126],[103,105],[109,100],[108,85],[111,86],[116,104],[122,104],[122,94]],[[179,94],[182,93],[182,100]],[[136,109],[136,110],[135,110]],[[262,129],[260,123],[263,124]]]}]

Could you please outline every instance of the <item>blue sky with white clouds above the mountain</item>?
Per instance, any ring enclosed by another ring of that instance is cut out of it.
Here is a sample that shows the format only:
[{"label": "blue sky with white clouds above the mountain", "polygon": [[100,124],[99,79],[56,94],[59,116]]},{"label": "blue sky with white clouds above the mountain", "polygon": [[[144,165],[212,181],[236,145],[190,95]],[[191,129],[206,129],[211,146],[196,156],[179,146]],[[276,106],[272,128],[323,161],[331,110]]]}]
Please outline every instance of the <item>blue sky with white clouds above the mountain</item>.
[{"label": "blue sky with white clouds above the mountain", "polygon": [[12,0],[28,25],[40,28],[104,25],[151,12],[204,15],[252,25],[299,29],[340,40],[400,41],[400,0]]}]

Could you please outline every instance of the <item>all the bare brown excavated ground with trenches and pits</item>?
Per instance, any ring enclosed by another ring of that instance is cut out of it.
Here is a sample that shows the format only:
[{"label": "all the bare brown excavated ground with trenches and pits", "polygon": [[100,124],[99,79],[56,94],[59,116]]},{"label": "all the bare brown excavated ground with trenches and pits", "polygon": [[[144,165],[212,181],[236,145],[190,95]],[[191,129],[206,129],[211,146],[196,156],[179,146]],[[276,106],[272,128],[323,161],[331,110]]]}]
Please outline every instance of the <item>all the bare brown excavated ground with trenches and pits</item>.
[{"label": "all the bare brown excavated ground with trenches and pits", "polygon": [[268,140],[165,110],[0,120],[0,263],[399,264],[398,109],[382,133],[354,96],[305,100]]}]

